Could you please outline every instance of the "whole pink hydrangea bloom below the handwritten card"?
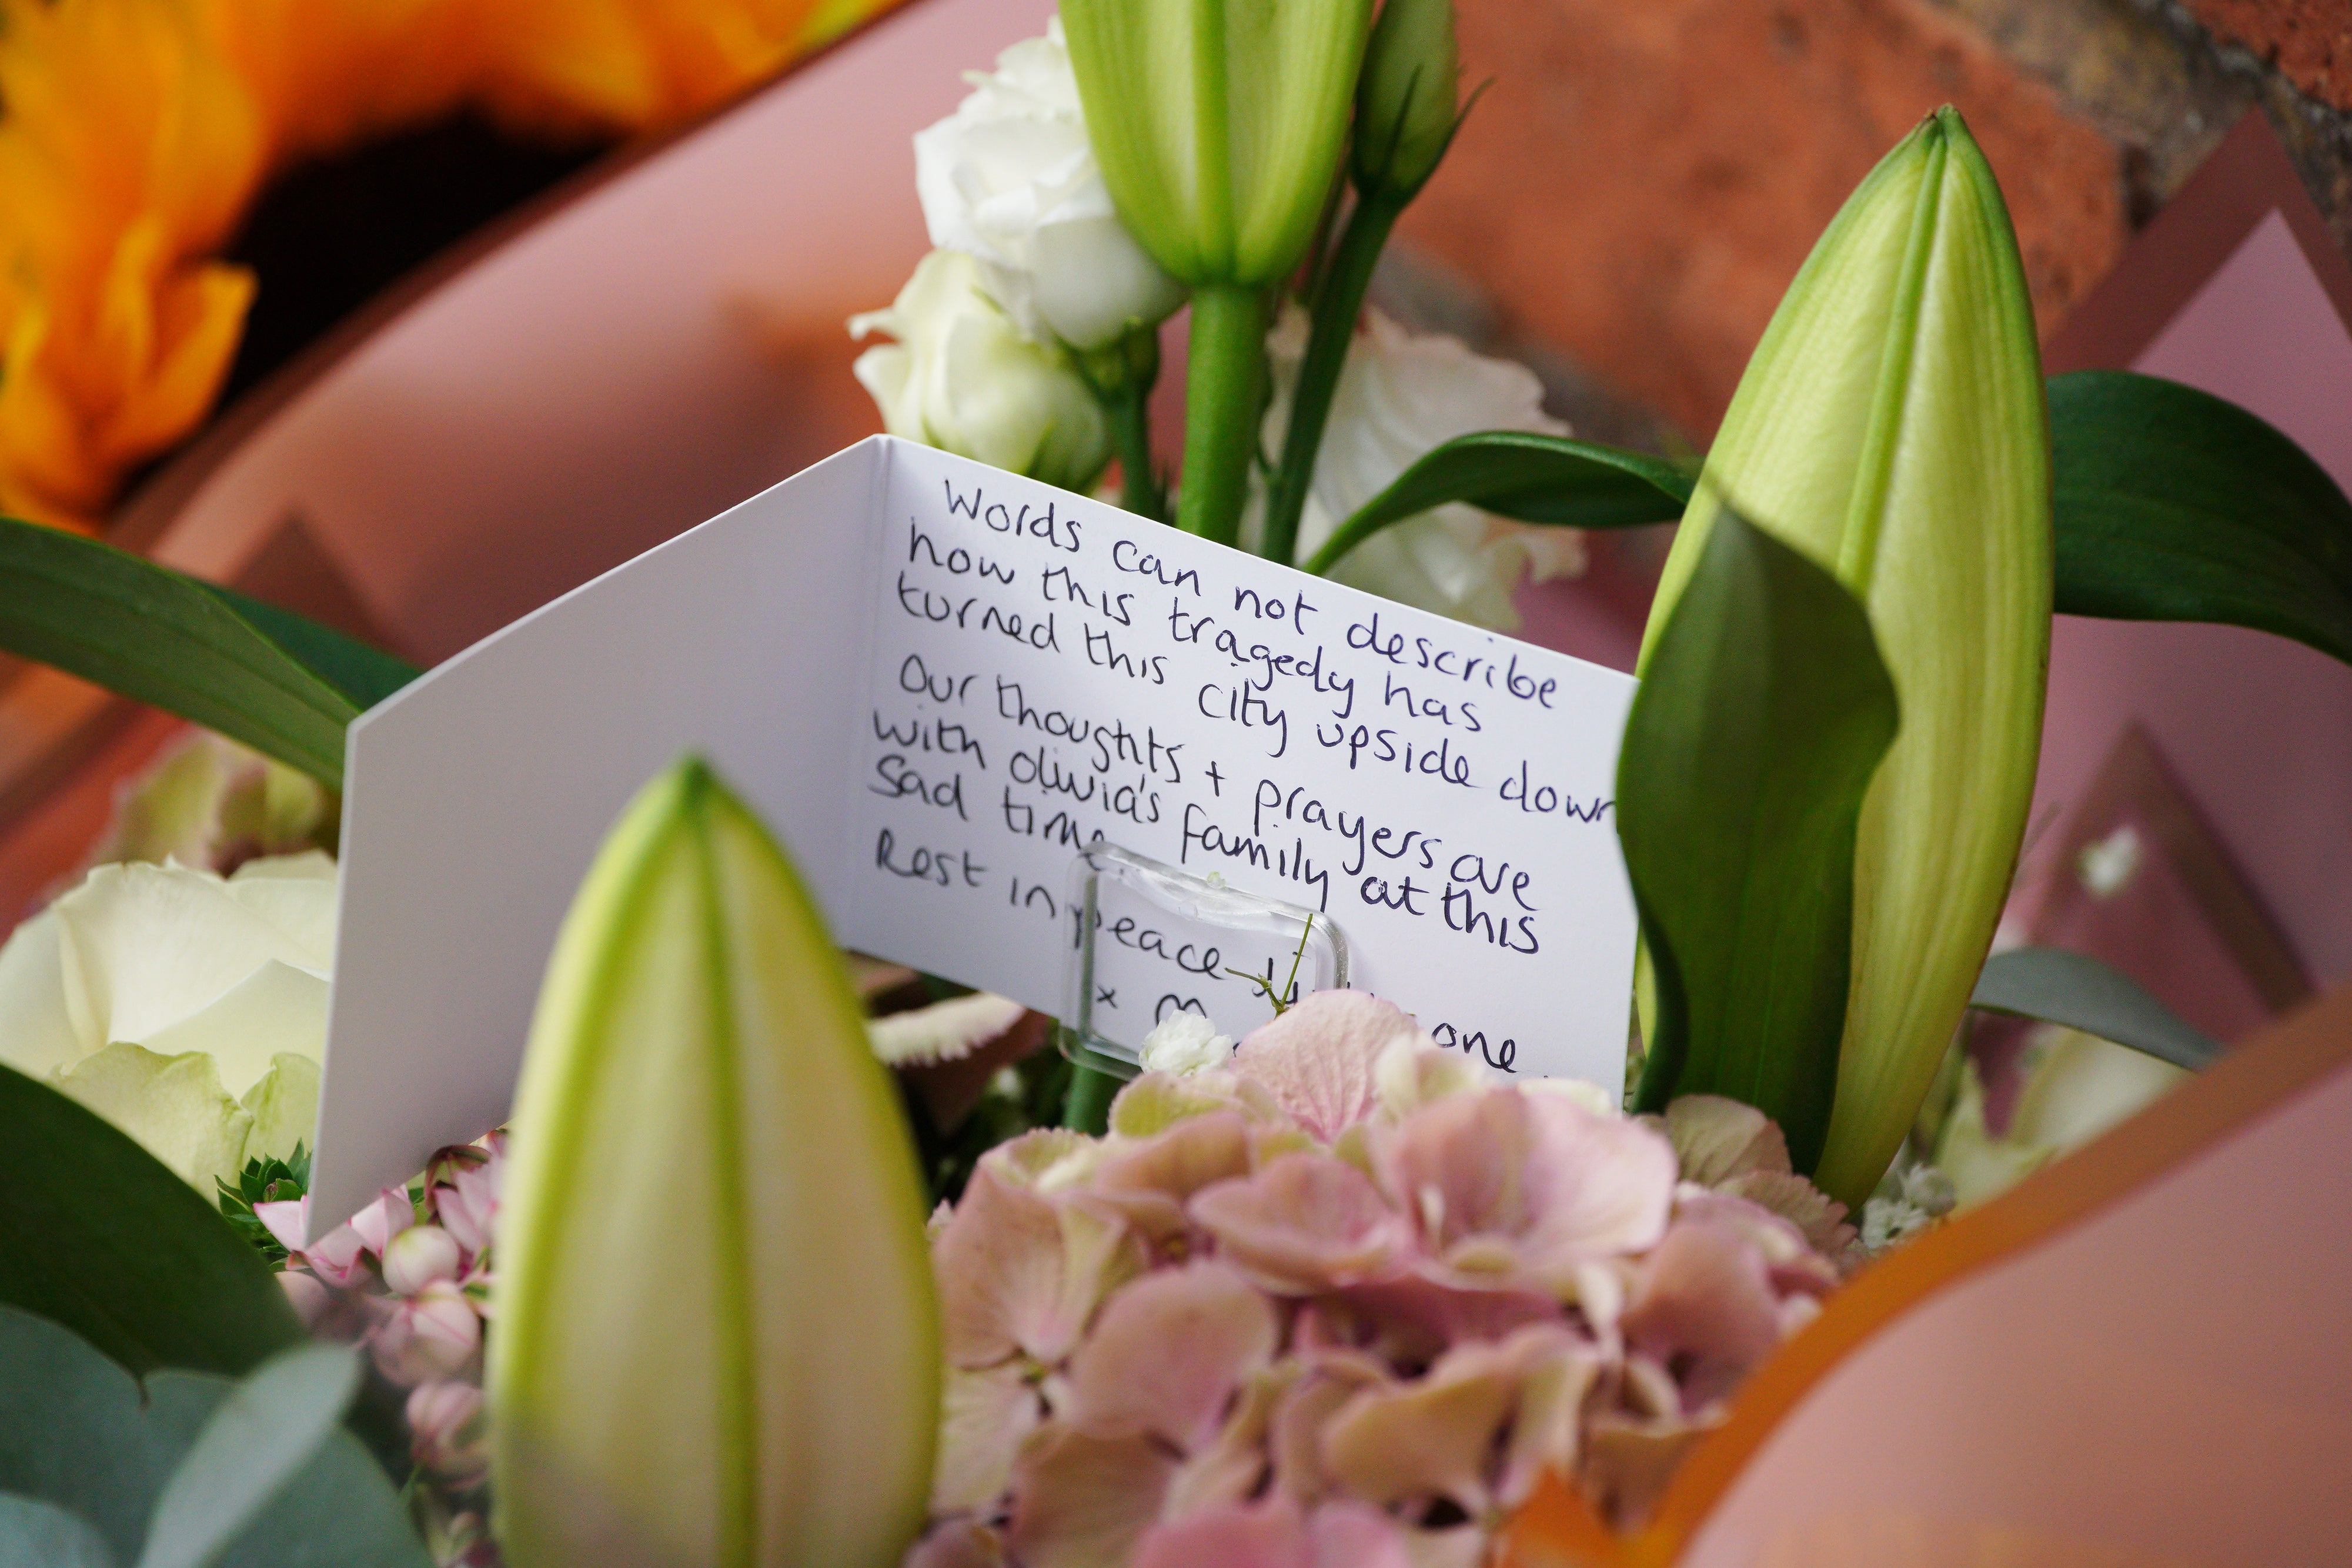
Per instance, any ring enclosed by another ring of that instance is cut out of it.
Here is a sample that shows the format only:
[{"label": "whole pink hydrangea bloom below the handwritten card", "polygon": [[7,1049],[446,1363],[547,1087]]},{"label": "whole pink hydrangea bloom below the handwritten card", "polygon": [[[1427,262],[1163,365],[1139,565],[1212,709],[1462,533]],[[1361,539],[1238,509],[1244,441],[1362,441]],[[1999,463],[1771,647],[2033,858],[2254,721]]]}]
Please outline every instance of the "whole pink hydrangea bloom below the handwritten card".
[{"label": "whole pink hydrangea bloom below the handwritten card", "polygon": [[1842,1215],[1748,1107],[1609,1105],[1322,992],[995,1150],[934,1218],[908,1568],[1472,1568],[1545,1469],[1642,1516]]}]

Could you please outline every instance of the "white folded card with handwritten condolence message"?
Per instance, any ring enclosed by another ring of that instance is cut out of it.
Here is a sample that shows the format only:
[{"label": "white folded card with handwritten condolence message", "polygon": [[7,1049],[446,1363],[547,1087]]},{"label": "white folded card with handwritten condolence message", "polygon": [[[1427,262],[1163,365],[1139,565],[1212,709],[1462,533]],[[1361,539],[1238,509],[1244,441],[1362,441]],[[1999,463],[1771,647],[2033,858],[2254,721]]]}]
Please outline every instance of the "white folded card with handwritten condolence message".
[{"label": "white folded card with handwritten condolence message", "polygon": [[[1616,1084],[1630,701],[1613,670],[861,442],[350,726],[313,1208],[350,1213],[508,1114],[572,893],[689,750],[849,947],[1058,1013],[1073,870],[1103,839],[1322,914],[1350,985],[1439,1044]],[[1120,1039],[1171,1006],[1268,1016],[1188,936],[1096,931]]]}]

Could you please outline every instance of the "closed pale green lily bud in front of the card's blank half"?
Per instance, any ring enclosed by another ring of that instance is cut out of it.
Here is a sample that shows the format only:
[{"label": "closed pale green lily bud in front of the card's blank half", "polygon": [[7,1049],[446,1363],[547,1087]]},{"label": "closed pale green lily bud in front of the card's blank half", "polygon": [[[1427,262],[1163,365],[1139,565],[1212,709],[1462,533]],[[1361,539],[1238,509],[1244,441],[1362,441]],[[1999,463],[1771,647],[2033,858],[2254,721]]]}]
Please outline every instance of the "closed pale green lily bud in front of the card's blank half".
[{"label": "closed pale green lily bud in front of the card's blank half", "polygon": [[510,1133],[506,1559],[896,1566],[938,1422],[922,1182],[823,922],[701,762],[581,884]]}]

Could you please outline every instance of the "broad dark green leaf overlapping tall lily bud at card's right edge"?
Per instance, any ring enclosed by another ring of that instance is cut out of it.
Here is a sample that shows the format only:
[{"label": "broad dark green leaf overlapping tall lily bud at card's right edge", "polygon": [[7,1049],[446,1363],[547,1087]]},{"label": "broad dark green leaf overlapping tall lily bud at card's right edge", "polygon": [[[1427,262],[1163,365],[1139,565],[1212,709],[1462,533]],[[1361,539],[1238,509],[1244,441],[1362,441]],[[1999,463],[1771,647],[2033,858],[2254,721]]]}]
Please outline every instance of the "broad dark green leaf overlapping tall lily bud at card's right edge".
[{"label": "broad dark green leaf overlapping tall lily bud at card's right edge", "polygon": [[1820,1157],[1853,950],[1863,792],[1896,689],[1835,576],[1717,512],[1618,752],[1618,837],[1658,980],[1642,1110],[1755,1105]]}]

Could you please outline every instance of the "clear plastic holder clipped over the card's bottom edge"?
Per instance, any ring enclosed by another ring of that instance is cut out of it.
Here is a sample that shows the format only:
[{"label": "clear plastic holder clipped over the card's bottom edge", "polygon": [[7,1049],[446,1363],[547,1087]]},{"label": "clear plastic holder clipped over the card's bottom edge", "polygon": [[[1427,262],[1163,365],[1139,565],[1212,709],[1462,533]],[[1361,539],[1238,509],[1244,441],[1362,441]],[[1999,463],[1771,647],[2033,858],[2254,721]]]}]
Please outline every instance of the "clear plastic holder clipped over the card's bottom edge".
[{"label": "clear plastic holder clipped over the card's bottom edge", "polygon": [[1317,990],[1348,985],[1348,938],[1329,914],[1195,877],[1105,839],[1070,870],[1063,1056],[1122,1079],[1169,1013],[1204,1013],[1240,1039]]}]

